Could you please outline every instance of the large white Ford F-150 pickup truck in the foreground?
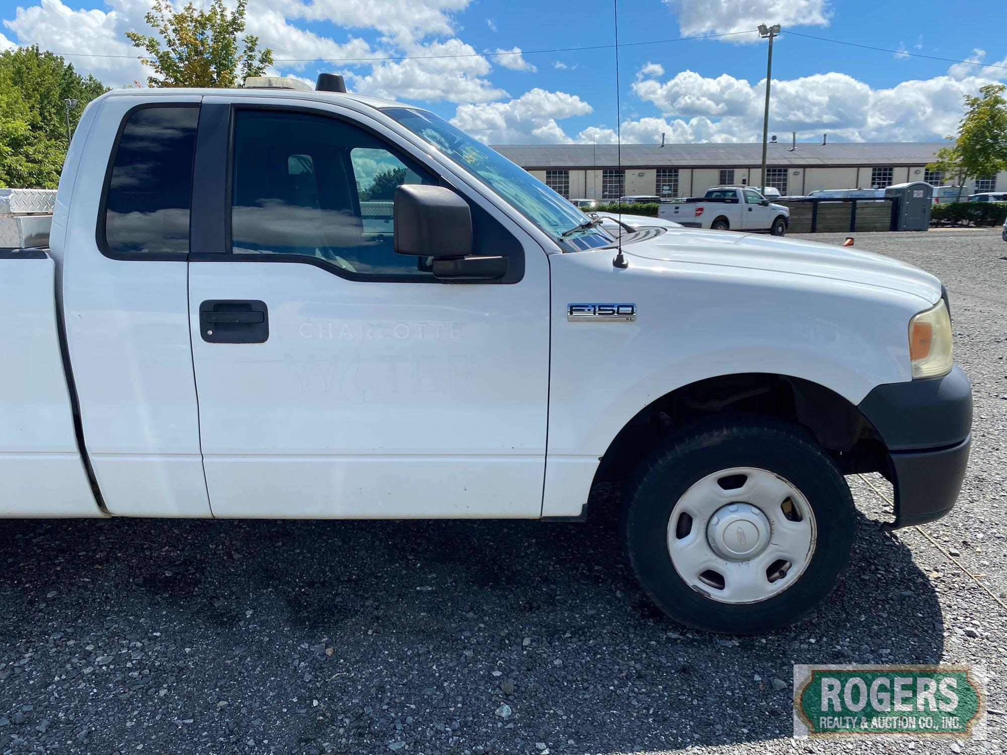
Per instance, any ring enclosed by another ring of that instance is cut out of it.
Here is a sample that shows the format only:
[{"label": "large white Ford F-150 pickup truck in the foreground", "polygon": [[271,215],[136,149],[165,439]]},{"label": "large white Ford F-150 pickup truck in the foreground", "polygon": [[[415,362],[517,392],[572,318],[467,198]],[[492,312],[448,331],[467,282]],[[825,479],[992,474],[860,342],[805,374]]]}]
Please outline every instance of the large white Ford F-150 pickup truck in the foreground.
[{"label": "large white Ford F-150 pickup truck in the foreground", "polygon": [[670,222],[616,243],[344,90],[89,105],[49,247],[0,253],[0,402],[4,516],[569,521],[611,480],[643,590],[728,632],[837,583],[844,475],[892,481],[889,526],[946,513],[972,421],[927,273]]}]

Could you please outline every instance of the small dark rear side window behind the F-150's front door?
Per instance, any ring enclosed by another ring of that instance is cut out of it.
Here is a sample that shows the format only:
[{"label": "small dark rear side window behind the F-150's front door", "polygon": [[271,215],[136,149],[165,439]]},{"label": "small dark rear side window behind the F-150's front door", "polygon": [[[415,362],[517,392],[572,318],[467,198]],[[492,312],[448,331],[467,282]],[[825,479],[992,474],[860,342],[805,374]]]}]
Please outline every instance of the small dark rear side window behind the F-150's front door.
[{"label": "small dark rear side window behind the F-150's front door", "polygon": [[188,252],[198,107],[141,108],[119,137],[105,195],[115,254]]}]

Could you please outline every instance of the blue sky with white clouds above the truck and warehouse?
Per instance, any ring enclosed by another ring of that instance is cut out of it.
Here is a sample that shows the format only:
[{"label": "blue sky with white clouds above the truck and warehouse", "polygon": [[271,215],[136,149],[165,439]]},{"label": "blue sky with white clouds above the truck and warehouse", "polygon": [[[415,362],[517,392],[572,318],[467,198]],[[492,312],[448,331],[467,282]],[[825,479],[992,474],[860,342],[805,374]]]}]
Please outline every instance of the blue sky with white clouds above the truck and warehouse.
[{"label": "blue sky with white clouds above the truck and warehouse", "polygon": [[[38,42],[110,86],[142,81],[123,37],[147,0],[3,0],[0,45]],[[250,0],[249,30],[277,71],[346,74],[353,91],[426,105],[491,143],[755,141],[765,43],[780,22],[770,129],[780,138],[932,141],[952,132],[965,94],[1007,80],[979,67],[800,36],[1007,66],[1007,3],[919,0],[620,0],[621,114],[615,110],[610,0]],[[744,31],[715,39],[632,44]],[[473,56],[512,50],[522,55]],[[107,55],[109,57],[103,57]],[[122,57],[111,57],[121,55]],[[321,62],[292,58],[413,60]],[[430,57],[431,55],[460,55]]]}]

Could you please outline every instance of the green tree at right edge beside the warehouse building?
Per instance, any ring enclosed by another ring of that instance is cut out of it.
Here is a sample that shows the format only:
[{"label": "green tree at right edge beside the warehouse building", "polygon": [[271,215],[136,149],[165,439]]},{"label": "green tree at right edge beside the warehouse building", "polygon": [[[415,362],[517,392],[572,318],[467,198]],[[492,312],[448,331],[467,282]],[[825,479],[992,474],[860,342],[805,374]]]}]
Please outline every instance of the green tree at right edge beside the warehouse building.
[{"label": "green tree at right edge beside the warehouse building", "polygon": [[[932,166],[946,165],[957,172],[960,185],[970,177],[995,175],[1007,170],[1007,86],[988,84],[979,95],[965,96],[965,117],[958,127],[954,147],[938,152]],[[950,139],[951,137],[949,137]],[[944,154],[942,154],[944,153]],[[931,170],[942,169],[933,168]],[[959,199],[962,190],[959,189]]]}]

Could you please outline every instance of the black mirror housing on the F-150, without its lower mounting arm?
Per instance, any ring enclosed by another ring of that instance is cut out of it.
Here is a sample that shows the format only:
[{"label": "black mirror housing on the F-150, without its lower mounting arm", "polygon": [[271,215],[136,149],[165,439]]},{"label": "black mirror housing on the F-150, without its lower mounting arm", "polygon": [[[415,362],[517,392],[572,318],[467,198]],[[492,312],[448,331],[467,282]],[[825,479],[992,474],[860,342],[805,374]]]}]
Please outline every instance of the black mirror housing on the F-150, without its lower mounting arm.
[{"label": "black mirror housing on the F-150, without its lower mounting arm", "polygon": [[400,255],[465,257],[472,254],[472,213],[451,189],[403,183],[395,189],[394,244]]}]

